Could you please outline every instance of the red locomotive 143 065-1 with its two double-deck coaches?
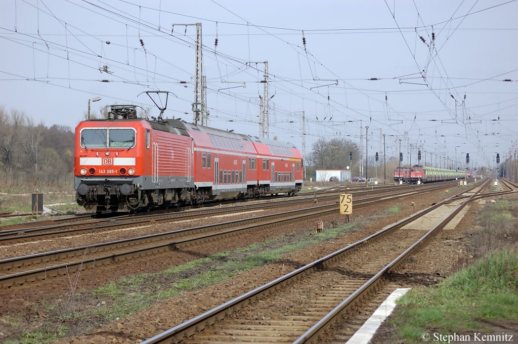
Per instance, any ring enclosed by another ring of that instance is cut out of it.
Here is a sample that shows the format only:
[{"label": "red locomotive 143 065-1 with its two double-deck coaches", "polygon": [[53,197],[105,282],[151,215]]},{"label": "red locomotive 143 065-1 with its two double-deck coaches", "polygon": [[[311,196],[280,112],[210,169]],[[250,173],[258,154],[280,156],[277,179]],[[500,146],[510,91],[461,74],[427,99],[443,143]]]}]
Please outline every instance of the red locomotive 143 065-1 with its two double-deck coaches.
[{"label": "red locomotive 143 065-1 with its two double-deck coaches", "polygon": [[292,144],[174,119],[138,118],[133,105],[76,127],[75,189],[89,211],[136,211],[205,200],[298,192]]}]

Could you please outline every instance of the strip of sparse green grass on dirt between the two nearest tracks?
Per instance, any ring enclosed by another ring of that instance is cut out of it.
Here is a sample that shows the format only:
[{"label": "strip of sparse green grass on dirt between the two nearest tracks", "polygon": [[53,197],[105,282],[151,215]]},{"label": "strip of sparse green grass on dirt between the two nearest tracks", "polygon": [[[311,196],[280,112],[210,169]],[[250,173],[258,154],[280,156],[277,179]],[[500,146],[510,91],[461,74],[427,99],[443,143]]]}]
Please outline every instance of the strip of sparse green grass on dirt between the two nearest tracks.
[{"label": "strip of sparse green grass on dirt between the two nearest tracks", "polygon": [[143,309],[157,300],[197,290],[219,283],[237,274],[281,259],[288,252],[303,249],[314,243],[330,240],[352,231],[346,224],[318,234],[298,237],[279,236],[264,242],[224,251],[152,274],[121,278],[104,285],[93,295],[111,299],[108,309],[96,309],[96,315],[108,319],[123,318]]}]

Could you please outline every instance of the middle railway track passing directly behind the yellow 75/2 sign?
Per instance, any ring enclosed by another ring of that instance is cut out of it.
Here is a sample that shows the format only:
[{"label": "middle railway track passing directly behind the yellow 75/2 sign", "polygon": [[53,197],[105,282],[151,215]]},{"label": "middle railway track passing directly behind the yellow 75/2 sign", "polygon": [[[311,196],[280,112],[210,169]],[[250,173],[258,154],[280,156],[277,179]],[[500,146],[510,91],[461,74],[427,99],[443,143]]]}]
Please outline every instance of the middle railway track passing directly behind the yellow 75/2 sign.
[{"label": "middle railway track passing directly behind the yellow 75/2 sign", "polygon": [[[433,185],[427,190],[430,191],[437,188],[444,188],[444,185]],[[423,188],[418,188],[416,191],[405,190],[401,191],[398,195],[393,193],[391,196],[382,195],[357,199],[354,200],[353,204],[354,207],[361,207],[422,192]],[[97,243],[89,246],[12,257],[0,261],[0,285],[9,288],[12,285],[44,280],[49,277],[68,274],[77,270],[112,264],[131,257],[155,254],[160,251],[196,245],[221,237],[237,235],[246,231],[257,231],[265,227],[279,226],[305,219],[322,217],[327,214],[335,213],[337,210],[338,204],[333,203],[252,219],[229,221],[215,225]],[[145,224],[141,224],[138,223],[137,220],[137,218],[132,220],[133,226],[153,225],[156,223],[155,220],[155,222],[150,223],[147,221]],[[115,224],[115,226],[117,226],[117,224]]]}]

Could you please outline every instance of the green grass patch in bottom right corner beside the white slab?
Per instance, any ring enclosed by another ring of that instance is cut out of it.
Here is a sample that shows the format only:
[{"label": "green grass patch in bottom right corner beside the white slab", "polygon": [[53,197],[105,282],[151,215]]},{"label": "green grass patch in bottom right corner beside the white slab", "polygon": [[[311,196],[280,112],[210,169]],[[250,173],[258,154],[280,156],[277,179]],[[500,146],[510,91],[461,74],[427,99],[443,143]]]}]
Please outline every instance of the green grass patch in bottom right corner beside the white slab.
[{"label": "green grass patch in bottom right corner beside the white slab", "polygon": [[391,322],[405,342],[423,332],[487,331],[483,319],[518,319],[518,252],[499,250],[430,288],[402,297]]}]

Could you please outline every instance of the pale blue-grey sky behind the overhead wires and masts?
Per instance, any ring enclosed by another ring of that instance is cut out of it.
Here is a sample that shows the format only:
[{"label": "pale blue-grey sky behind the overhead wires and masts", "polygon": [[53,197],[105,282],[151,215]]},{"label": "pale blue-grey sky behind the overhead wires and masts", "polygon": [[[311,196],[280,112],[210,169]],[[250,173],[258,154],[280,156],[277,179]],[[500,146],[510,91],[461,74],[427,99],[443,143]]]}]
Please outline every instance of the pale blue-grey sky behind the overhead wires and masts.
[{"label": "pale blue-grey sky behind the overhead wires and masts", "polygon": [[151,107],[137,97],[151,90],[178,97],[169,98],[166,117],[192,121],[195,28],[181,24],[200,22],[210,126],[259,134],[268,61],[269,136],[302,149],[305,111],[307,153],[320,137],[359,142],[362,124],[369,155],[383,151],[385,134],[387,156],[398,154],[401,139],[405,163],[410,144],[455,161],[469,153],[473,166],[517,148],[516,0],[4,0],[2,7],[0,105],[47,125],[74,127],[93,97],[102,98],[92,103],[96,113],[115,103]]}]

